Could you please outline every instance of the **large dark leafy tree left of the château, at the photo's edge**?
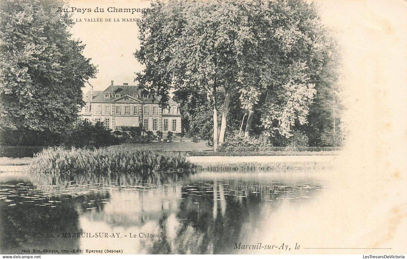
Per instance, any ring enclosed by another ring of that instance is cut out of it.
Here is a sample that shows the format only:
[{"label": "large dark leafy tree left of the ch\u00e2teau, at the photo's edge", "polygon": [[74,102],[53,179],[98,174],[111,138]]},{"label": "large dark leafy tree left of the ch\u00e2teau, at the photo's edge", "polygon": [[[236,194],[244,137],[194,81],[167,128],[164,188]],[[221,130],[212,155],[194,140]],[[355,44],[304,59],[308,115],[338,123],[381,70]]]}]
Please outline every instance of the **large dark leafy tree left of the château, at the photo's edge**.
[{"label": "large dark leafy tree left of the ch\u00e2teau, at the photo's edge", "polygon": [[[72,39],[62,1],[0,2],[2,141],[55,144],[77,118],[81,88],[96,67]],[[7,138],[5,136],[11,136]]]}]

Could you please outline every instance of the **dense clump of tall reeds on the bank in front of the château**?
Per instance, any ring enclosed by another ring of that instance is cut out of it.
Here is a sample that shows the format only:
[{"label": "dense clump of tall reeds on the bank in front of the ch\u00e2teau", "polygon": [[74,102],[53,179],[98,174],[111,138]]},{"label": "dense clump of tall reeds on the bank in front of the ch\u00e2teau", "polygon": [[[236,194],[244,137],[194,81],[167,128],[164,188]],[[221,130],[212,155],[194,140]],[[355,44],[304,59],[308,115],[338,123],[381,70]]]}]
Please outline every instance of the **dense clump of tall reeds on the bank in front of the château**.
[{"label": "dense clump of tall reeds on the bank in front of the ch\u00e2teau", "polygon": [[52,176],[188,174],[195,165],[181,154],[134,148],[48,148],[33,158],[30,172]]}]

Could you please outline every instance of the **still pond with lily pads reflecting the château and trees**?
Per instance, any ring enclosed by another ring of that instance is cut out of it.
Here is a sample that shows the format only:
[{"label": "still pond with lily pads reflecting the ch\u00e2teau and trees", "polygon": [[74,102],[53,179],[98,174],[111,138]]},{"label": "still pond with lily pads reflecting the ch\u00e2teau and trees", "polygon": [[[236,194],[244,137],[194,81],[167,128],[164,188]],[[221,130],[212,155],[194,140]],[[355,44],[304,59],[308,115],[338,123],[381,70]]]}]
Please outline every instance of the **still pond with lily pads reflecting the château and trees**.
[{"label": "still pond with lily pads reflecting the ch\u00e2teau and trees", "polygon": [[273,213],[282,207],[295,213],[329,190],[319,175],[201,172],[173,178],[62,179],[2,173],[0,251],[241,253],[236,246],[252,240]]}]

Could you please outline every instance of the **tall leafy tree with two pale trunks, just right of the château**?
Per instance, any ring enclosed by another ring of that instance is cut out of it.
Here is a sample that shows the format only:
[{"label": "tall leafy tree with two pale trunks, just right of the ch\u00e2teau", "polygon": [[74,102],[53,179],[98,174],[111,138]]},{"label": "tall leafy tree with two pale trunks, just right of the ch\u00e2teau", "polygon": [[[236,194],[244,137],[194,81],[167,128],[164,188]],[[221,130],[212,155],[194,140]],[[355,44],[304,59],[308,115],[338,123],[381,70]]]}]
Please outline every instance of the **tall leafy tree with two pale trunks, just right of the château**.
[{"label": "tall leafy tree with two pale trunks, just right of the ch\u00e2teau", "polygon": [[[235,57],[243,27],[240,17],[244,15],[230,2],[168,1],[152,5],[156,11],[144,14],[139,22],[141,48],[135,54],[146,69],[137,79],[161,96],[168,95],[172,87],[205,94],[212,107],[216,150],[217,91],[223,87],[230,95],[237,82]],[[223,124],[228,112],[228,102],[225,104]]]}]

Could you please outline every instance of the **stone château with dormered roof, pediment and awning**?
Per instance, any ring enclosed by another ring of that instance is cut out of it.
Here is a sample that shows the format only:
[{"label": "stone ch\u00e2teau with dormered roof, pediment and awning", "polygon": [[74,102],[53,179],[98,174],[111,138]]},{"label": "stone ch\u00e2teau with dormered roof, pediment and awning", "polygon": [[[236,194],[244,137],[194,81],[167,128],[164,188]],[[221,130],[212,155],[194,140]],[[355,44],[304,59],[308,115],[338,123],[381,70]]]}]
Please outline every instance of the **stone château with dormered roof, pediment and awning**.
[{"label": "stone ch\u00e2teau with dormered roof, pediment and awning", "polygon": [[79,112],[81,120],[103,122],[112,130],[123,127],[142,127],[145,131],[181,132],[179,104],[171,98],[161,107],[160,97],[153,98],[137,85],[114,85],[104,91],[90,90],[84,96],[85,106]]}]

